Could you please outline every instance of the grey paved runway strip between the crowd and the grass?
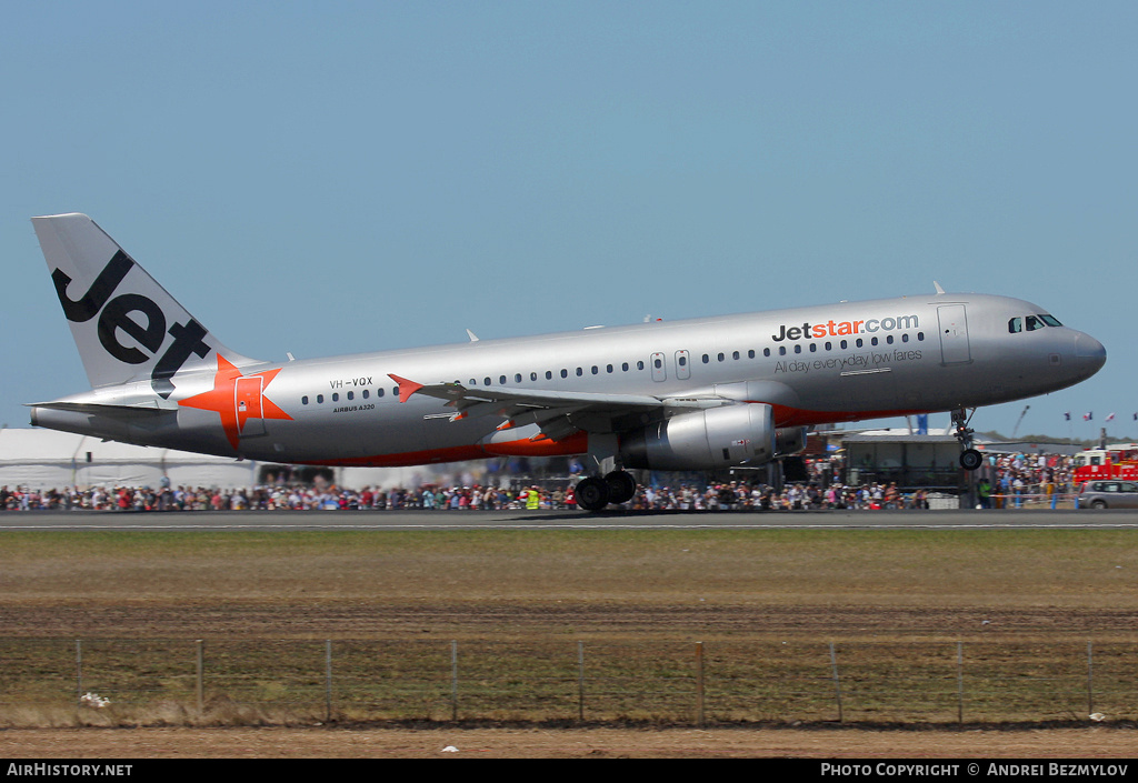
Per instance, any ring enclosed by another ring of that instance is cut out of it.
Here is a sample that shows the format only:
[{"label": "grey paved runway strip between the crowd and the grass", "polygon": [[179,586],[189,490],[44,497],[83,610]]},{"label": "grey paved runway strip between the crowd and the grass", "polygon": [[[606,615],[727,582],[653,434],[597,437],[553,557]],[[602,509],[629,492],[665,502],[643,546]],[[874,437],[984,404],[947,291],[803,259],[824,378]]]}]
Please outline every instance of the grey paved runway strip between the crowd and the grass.
[{"label": "grey paved runway strip between the crowd and the grass", "polygon": [[1138,511],[5,511],[9,530],[1138,529]]}]

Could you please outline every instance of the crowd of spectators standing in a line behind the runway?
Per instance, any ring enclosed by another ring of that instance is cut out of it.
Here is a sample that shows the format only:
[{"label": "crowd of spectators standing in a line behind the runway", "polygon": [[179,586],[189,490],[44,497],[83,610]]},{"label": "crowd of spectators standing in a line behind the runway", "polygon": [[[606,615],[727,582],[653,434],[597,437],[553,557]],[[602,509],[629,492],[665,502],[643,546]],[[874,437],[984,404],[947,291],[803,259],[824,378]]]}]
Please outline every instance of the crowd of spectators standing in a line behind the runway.
[{"label": "crowd of spectators standing in a line behind the runway", "polygon": [[[979,471],[978,502],[984,508],[1019,508],[1025,502],[1052,505],[1074,492],[1072,458],[1055,454],[990,454]],[[245,510],[539,510],[576,508],[570,483],[518,487],[423,486],[348,489],[335,485],[217,487],[90,487],[38,491],[0,487],[0,511],[91,509],[98,511],[245,511]],[[900,492],[896,484],[843,486],[832,465],[810,465],[801,483],[775,489],[761,483],[637,486],[625,504],[634,510],[927,509],[923,489]]]}]

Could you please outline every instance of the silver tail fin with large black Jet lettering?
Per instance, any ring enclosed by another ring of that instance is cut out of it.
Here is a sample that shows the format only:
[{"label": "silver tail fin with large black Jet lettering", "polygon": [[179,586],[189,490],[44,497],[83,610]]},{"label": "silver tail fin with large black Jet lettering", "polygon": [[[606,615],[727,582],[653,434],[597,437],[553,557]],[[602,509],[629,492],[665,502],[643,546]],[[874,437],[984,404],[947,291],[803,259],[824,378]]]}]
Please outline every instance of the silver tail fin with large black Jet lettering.
[{"label": "silver tail fin with large black Jet lettering", "polygon": [[216,369],[225,348],[86,215],[33,217],[92,387],[149,378],[168,398],[179,372]]}]

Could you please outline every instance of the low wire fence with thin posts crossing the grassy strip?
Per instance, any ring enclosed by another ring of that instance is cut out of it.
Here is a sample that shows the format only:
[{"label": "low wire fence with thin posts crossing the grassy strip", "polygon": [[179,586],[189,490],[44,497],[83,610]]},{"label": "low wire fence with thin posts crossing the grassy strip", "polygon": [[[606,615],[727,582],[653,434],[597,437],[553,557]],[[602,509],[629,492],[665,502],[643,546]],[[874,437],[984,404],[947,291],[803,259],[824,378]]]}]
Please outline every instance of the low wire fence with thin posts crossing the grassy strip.
[{"label": "low wire fence with thin posts crossing the grassy strip", "polygon": [[1138,718],[1138,643],[0,638],[0,725]]}]

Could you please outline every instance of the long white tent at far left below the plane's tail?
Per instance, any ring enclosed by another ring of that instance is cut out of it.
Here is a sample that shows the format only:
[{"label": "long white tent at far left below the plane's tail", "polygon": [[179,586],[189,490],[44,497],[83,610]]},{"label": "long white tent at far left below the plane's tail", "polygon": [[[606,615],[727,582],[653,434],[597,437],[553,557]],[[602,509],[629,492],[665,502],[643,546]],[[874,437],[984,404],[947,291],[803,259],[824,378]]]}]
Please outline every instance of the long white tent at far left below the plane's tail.
[{"label": "long white tent at far left below the plane's tail", "polygon": [[69,486],[245,487],[256,462],[104,442],[50,429],[0,429],[0,486],[51,489]]}]

